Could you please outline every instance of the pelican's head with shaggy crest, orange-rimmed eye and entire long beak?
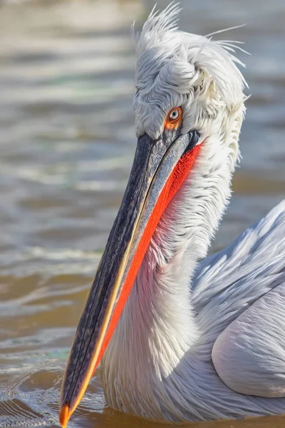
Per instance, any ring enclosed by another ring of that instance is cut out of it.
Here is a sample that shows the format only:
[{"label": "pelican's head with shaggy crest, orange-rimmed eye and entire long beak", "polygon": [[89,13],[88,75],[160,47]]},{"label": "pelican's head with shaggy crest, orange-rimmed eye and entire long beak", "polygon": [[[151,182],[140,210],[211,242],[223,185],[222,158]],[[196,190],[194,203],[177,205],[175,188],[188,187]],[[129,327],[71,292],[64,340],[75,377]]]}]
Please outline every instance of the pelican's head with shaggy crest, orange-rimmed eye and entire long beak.
[{"label": "pelican's head with shaggy crest, orange-rimmed eye and entire long beak", "polygon": [[[125,195],[78,325],[61,389],[66,426],[81,401],[167,205],[202,150],[212,161],[237,162],[244,78],[230,42],[176,27],[179,9],[152,11],[134,34],[135,124],[138,145]],[[211,165],[201,163],[205,174]]]}]

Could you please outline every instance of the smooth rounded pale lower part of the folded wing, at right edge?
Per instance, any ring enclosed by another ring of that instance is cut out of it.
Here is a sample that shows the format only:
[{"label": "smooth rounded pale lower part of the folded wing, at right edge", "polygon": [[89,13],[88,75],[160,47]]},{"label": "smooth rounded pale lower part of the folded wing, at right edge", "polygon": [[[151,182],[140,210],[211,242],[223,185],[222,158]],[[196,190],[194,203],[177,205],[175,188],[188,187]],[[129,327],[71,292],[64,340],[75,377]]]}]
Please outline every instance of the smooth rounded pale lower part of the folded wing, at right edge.
[{"label": "smooth rounded pale lower part of the folded wing, at right edge", "polygon": [[285,397],[285,283],[259,298],[217,337],[212,362],[236,392]]}]

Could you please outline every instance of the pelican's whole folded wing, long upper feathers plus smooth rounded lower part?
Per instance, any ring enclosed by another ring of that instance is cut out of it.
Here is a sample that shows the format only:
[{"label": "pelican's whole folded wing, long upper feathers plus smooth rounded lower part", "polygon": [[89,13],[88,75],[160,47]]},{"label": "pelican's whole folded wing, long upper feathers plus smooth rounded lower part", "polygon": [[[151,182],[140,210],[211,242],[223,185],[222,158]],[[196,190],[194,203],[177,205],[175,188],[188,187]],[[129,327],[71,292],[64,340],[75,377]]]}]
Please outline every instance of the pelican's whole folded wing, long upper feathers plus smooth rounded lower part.
[{"label": "pelican's whole folded wing, long upper feathers plus smooth rounded lower part", "polygon": [[192,304],[222,381],[285,397],[285,200],[199,264]]}]

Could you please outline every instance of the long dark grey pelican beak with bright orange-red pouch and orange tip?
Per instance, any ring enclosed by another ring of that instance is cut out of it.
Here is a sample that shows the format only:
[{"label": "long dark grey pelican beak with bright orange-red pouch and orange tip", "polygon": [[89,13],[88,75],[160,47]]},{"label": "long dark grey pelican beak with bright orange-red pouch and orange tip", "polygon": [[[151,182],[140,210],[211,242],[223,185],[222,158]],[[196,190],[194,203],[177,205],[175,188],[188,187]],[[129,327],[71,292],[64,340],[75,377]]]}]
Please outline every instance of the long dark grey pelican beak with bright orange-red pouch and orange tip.
[{"label": "long dark grey pelican beak with bright orange-red pouch and orange tip", "polygon": [[157,223],[197,156],[199,146],[194,133],[179,136],[178,130],[167,130],[155,141],[146,134],[138,138],[123,202],[95,274],[63,377],[59,417],[62,427],[66,427],[81,401],[113,335]]}]

